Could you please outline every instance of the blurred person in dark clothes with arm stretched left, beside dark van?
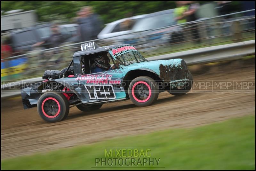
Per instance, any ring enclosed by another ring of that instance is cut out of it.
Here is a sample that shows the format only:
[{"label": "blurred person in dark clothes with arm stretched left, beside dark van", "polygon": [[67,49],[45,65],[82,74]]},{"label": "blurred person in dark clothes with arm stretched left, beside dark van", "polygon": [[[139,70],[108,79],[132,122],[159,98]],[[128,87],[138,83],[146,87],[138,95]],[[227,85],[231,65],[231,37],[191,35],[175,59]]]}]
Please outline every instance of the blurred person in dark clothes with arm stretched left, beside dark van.
[{"label": "blurred person in dark clothes with arm stretched left, beside dark van", "polygon": [[54,47],[58,47],[60,46],[61,43],[63,43],[64,38],[60,33],[60,28],[57,24],[53,24],[51,26],[51,31],[52,31],[52,35],[50,37],[48,37],[45,41],[43,42],[37,42],[36,44],[33,45],[34,46],[40,46],[41,44],[44,43],[49,43],[50,48],[54,48]]}]

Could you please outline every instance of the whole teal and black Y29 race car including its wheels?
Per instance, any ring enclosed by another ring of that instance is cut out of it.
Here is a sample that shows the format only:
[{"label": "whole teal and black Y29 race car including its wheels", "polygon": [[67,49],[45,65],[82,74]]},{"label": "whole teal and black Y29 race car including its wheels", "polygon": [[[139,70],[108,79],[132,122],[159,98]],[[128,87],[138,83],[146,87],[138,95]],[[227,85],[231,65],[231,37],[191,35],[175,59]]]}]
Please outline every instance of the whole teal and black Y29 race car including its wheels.
[{"label": "whole teal and black Y29 race car including its wheels", "polygon": [[[93,73],[95,57],[105,54],[112,70]],[[183,59],[148,61],[130,44],[99,47],[81,44],[68,67],[47,70],[43,82],[21,87],[24,109],[37,106],[47,122],[64,120],[69,108],[83,112],[99,110],[104,103],[130,99],[137,106],[156,102],[168,91],[179,96],[192,87],[193,78]]]}]

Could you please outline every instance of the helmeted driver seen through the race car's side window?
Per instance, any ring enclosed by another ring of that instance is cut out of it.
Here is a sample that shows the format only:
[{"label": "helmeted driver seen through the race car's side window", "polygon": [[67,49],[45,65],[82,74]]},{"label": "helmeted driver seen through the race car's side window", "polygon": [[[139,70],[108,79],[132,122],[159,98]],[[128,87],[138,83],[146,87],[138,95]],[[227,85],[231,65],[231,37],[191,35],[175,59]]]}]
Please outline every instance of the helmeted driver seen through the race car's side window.
[{"label": "helmeted driver seen through the race car's side window", "polygon": [[[115,69],[115,65],[110,67],[109,62],[110,62],[110,59],[106,54],[97,55],[94,58],[92,73],[100,73],[100,72],[110,71]],[[118,64],[117,64],[117,67],[118,67]]]}]

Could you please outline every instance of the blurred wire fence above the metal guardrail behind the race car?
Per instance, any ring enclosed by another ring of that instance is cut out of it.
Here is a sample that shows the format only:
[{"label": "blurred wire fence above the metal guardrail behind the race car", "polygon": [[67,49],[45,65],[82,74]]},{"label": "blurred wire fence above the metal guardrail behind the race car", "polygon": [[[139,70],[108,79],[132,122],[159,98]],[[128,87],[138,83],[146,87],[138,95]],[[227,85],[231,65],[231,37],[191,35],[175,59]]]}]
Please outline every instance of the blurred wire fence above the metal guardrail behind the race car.
[{"label": "blurred wire fence above the metal guardrail behind the race car", "polygon": [[[255,39],[255,16],[229,19],[225,16],[91,41],[100,46],[132,44],[147,58]],[[47,50],[35,48],[26,54],[4,58],[1,60],[1,82],[41,76],[48,69],[61,70],[67,67],[73,54],[80,50],[80,43],[75,43]]]}]

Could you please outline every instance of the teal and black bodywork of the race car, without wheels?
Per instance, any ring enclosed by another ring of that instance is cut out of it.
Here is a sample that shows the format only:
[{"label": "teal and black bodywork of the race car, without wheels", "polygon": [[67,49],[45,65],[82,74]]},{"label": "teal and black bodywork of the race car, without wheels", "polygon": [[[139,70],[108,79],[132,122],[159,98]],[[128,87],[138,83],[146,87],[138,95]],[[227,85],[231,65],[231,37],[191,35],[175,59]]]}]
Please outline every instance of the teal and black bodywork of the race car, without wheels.
[{"label": "teal and black bodywork of the race car, without wheels", "polygon": [[[77,105],[129,99],[129,84],[139,76],[148,76],[161,84],[158,86],[159,92],[175,89],[189,80],[188,68],[183,59],[148,61],[130,44],[99,47],[92,42],[82,44],[81,50],[73,55],[67,68],[54,70],[55,74],[51,74],[52,70],[45,71],[46,76],[43,78],[47,80],[21,87],[24,109],[35,107],[39,97],[45,91],[51,91],[50,83],[59,87],[63,85],[65,90],[74,93],[76,96],[69,97],[70,93],[64,91],[69,104]],[[113,64],[118,63],[119,66],[110,71],[91,73],[90,58],[102,52],[108,53]],[[54,89],[57,89],[56,86]]]}]

